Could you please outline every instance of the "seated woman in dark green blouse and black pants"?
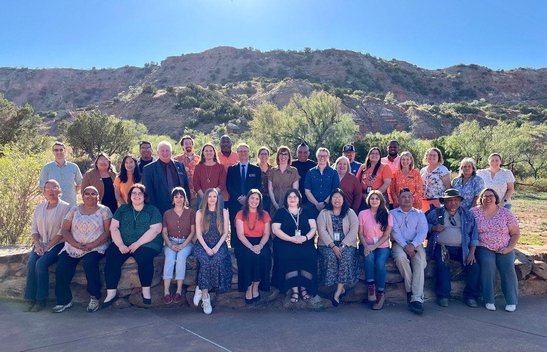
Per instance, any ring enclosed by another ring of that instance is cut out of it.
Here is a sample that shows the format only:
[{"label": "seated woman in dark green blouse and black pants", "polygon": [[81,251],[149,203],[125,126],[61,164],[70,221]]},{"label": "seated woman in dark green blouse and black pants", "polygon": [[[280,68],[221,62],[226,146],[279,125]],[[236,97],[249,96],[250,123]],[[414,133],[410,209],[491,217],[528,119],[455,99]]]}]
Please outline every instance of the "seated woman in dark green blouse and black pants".
[{"label": "seated woman in dark green blouse and black pants", "polygon": [[142,184],[134,184],[129,203],[119,207],[110,222],[112,243],[104,253],[104,281],[106,297],[102,308],[112,306],[120,297],[117,294],[121,266],[133,257],[138,266],[138,278],[142,286],[142,302],[151,304],[150,286],[154,277],[154,257],[164,246],[161,238],[161,214],[148,202],[148,190]]}]

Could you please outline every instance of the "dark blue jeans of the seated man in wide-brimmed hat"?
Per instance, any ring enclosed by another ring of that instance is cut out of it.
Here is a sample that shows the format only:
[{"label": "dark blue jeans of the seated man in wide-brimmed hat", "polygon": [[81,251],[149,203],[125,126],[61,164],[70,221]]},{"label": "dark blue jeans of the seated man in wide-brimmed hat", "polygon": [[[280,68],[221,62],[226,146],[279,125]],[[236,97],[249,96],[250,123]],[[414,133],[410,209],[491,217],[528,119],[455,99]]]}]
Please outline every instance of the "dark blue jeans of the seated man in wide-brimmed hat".
[{"label": "dark blue jeans of the seated man in wide-brimmed hat", "polygon": [[[450,254],[450,259],[456,260],[460,263],[463,261],[461,247],[454,247],[451,245],[446,245],[445,247]],[[435,259],[435,264],[437,264],[437,267],[435,269],[435,293],[439,298],[450,298],[450,291],[452,291],[452,286],[450,284],[450,265],[445,266],[445,263],[443,263],[440,244],[435,245],[433,258]],[[476,300],[476,298],[480,295],[479,262],[465,265],[465,279],[467,279],[467,283],[465,284],[465,288],[463,289],[463,298],[465,298],[466,300]]]}]

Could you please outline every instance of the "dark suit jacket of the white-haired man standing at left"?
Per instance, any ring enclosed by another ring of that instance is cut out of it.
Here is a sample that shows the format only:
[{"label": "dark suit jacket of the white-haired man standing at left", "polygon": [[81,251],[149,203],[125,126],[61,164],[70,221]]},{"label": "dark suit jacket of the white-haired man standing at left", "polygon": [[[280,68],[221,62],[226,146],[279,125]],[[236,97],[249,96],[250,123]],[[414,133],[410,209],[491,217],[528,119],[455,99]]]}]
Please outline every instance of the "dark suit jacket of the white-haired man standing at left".
[{"label": "dark suit jacket of the white-haired man standing at left", "polygon": [[[174,167],[177,170],[178,182],[181,187],[184,188],[188,196],[188,202],[191,200],[190,185],[188,184],[188,176],[182,162],[173,160]],[[167,210],[173,208],[171,202],[171,190],[168,189],[167,179],[165,178],[164,171],[161,169],[160,160],[149,163],[143,168],[142,180],[148,197],[150,198],[150,204],[160,210],[163,215]]]}]

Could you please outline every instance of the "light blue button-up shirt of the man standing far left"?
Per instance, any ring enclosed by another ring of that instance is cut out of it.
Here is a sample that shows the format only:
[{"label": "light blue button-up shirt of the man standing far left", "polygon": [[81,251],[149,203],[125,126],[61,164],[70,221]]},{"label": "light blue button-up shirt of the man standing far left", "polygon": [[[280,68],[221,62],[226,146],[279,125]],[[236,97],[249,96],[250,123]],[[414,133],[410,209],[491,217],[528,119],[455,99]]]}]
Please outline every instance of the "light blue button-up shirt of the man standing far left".
[{"label": "light blue button-up shirt of the man standing far left", "polygon": [[71,207],[78,204],[76,186],[82,185],[82,173],[80,168],[73,162],[65,161],[60,166],[56,161],[48,162],[40,171],[40,187],[44,187],[46,181],[55,180],[61,186],[61,200],[67,202]]}]

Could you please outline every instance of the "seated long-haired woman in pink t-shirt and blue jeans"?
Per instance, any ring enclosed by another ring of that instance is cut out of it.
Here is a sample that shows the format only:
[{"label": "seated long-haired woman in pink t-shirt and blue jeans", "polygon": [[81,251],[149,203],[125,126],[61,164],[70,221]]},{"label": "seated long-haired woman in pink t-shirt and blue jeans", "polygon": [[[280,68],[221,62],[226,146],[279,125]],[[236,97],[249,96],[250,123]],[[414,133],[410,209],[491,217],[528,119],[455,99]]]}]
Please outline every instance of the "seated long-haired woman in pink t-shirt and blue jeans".
[{"label": "seated long-haired woman in pink t-shirt and blue jeans", "polygon": [[[359,242],[363,244],[366,288],[374,310],[380,310],[385,300],[386,260],[389,257],[389,234],[393,228],[393,215],[389,213],[386,199],[379,190],[366,196],[368,209],[359,213]],[[376,287],[374,286],[376,273]]]}]

